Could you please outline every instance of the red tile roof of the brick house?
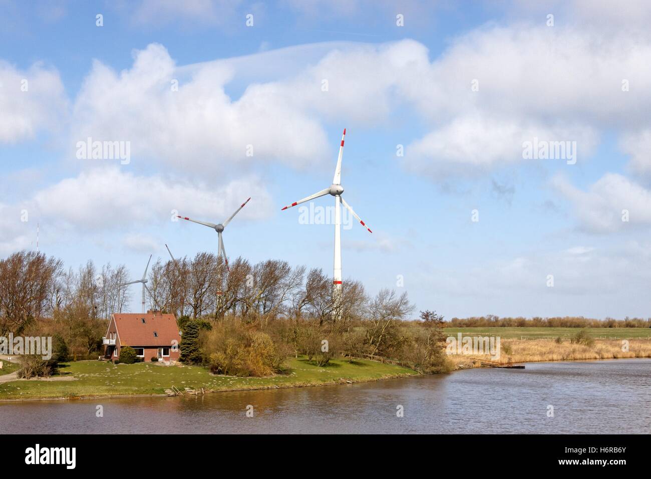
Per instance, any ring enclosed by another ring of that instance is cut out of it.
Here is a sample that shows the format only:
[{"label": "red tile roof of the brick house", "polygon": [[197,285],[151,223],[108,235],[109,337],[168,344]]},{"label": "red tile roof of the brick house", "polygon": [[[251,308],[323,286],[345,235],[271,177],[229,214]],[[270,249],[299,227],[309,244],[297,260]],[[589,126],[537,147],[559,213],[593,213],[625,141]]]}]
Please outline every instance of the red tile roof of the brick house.
[{"label": "red tile roof of the brick house", "polygon": [[[173,341],[181,343],[173,314],[113,313],[113,319],[122,346],[170,346],[174,344]],[[157,336],[154,336],[154,332]]]}]

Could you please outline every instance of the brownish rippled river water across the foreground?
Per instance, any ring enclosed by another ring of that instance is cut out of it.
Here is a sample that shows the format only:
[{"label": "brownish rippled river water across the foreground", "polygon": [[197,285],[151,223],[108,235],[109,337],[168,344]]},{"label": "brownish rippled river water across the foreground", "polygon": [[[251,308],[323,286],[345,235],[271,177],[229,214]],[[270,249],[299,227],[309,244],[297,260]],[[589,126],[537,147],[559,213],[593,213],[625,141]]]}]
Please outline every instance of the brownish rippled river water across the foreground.
[{"label": "brownish rippled river water across the foreground", "polygon": [[183,398],[0,403],[0,424],[3,433],[651,433],[651,359]]}]

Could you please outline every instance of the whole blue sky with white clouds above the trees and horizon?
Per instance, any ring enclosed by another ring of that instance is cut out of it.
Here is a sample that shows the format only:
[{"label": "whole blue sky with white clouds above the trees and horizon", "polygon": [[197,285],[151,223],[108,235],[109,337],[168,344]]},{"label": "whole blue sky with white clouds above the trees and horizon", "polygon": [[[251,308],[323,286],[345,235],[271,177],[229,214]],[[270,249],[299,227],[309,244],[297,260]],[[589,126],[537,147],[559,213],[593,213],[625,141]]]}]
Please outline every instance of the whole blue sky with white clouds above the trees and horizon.
[{"label": "whole blue sky with white clouds above the trees and horizon", "polygon": [[165,244],[217,252],[177,213],[251,197],[229,257],[332,274],[333,198],[281,208],[329,187],[346,128],[372,234],[344,214],[342,269],[368,293],[650,317],[650,20],[637,0],[0,0],[0,256],[38,224],[66,267],[139,278]]}]

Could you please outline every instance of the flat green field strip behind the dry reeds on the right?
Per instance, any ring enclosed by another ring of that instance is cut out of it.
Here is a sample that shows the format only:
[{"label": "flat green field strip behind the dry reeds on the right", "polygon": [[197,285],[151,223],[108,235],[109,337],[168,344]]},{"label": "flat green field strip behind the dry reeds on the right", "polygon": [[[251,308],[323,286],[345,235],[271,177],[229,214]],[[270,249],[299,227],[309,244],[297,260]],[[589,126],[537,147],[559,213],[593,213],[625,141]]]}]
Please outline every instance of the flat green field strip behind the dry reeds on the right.
[{"label": "flat green field strip behind the dry reeds on the right", "polygon": [[[445,328],[446,336],[499,336],[510,339],[555,339],[558,336],[570,338],[581,328]],[[587,328],[592,338],[602,339],[651,339],[651,328]]]}]

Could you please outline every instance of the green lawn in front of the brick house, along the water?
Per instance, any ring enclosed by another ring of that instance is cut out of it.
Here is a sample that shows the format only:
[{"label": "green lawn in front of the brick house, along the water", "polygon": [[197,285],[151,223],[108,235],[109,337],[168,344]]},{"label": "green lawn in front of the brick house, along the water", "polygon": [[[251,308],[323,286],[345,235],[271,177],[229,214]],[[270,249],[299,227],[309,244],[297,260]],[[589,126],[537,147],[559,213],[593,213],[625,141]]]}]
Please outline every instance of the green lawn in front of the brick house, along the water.
[{"label": "green lawn in front of the brick house, along the water", "polygon": [[369,381],[386,377],[408,376],[415,371],[369,360],[333,360],[324,367],[307,359],[290,358],[284,375],[266,378],[224,377],[212,375],[200,366],[161,366],[152,363],[110,364],[101,361],[66,363],[61,375],[74,381],[12,381],[0,384],[0,399],[74,398],[110,394],[163,394],[176,386],[205,390],[272,388],[274,386],[310,386],[348,381]]}]

